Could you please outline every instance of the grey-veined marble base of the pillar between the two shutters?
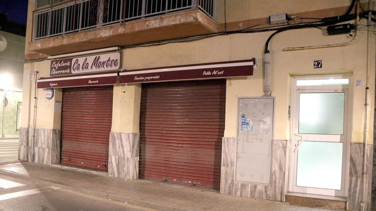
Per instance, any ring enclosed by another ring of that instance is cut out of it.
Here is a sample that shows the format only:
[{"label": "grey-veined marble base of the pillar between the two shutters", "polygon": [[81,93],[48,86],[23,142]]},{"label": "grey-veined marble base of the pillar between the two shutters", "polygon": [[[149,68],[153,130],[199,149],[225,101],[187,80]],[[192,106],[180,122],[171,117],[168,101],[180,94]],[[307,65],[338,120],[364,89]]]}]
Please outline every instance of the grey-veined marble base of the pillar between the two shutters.
[{"label": "grey-veined marble base of the pillar between the two shutters", "polygon": [[138,179],[139,134],[110,133],[108,175]]}]

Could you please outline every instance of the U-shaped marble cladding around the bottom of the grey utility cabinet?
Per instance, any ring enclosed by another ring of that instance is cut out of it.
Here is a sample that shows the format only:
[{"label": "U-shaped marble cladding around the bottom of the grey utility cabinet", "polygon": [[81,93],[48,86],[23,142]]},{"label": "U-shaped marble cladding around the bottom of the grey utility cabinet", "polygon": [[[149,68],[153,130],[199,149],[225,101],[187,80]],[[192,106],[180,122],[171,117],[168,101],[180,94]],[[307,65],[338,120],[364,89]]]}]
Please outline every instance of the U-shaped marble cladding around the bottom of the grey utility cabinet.
[{"label": "U-shaped marble cladding around the bottom of the grey utility cabinet", "polygon": [[287,140],[273,140],[271,184],[257,185],[235,181],[237,139],[222,139],[221,189],[223,194],[283,201]]}]

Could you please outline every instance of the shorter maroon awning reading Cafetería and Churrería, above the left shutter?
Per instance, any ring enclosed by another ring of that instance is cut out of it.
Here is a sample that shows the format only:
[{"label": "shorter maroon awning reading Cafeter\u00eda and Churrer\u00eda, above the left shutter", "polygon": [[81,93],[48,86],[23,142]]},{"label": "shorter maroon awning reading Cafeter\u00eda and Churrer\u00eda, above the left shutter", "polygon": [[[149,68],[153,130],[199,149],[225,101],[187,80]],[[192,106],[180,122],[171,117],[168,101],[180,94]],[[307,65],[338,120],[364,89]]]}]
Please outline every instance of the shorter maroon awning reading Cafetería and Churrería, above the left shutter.
[{"label": "shorter maroon awning reading Cafeter\u00eda and Churrer\u00eda, above the left shutter", "polygon": [[73,77],[39,78],[38,88],[57,88],[74,86],[99,86],[116,84],[118,72],[96,75],[79,75]]}]

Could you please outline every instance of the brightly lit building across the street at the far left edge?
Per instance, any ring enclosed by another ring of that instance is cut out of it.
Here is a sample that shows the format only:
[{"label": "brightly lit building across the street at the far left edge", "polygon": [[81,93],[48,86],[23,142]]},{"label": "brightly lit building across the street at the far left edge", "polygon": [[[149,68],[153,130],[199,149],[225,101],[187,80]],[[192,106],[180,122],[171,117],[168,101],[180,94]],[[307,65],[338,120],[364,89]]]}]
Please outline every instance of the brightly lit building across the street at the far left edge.
[{"label": "brightly lit building across the street at the far left edge", "polygon": [[[21,125],[26,24],[0,12],[0,134],[17,135]],[[4,96],[5,95],[5,96]],[[6,106],[4,106],[6,99]]]}]

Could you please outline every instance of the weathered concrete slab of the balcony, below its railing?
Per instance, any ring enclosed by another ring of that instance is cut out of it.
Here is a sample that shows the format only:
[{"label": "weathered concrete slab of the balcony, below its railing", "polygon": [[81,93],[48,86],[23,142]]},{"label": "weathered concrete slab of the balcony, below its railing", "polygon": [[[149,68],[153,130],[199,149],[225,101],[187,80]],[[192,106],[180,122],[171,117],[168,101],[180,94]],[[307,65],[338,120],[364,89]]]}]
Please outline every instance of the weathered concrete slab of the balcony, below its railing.
[{"label": "weathered concrete slab of the balcony, below its railing", "polygon": [[75,32],[29,43],[29,50],[47,55],[135,45],[217,32],[217,24],[199,10]]}]

